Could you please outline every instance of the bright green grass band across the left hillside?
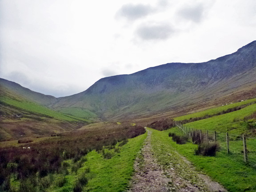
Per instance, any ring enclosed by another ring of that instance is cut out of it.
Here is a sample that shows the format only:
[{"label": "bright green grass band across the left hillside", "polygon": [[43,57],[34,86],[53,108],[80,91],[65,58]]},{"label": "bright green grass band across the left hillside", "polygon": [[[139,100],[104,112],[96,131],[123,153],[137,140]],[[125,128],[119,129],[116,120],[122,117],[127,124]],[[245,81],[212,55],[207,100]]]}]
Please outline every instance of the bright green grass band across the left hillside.
[{"label": "bright green grass band across the left hillside", "polygon": [[14,100],[7,97],[1,97],[0,100],[6,104],[12,105],[16,108],[21,108],[24,110],[27,110],[29,112],[36,112],[40,113],[42,115],[51,116],[53,118],[56,118],[58,120],[67,120],[67,121],[88,121],[79,117],[74,117],[70,115],[65,115],[60,112],[52,111],[49,108],[46,108],[40,104],[36,104],[33,102],[29,102],[26,100]]}]

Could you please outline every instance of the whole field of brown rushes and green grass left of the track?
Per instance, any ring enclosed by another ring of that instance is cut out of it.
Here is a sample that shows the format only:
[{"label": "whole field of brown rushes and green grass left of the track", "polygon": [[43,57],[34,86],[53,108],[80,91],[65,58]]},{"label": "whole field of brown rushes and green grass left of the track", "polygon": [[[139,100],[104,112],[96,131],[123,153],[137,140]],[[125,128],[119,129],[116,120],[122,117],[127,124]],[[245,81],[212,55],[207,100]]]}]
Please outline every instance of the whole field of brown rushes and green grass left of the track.
[{"label": "whole field of brown rushes and green grass left of the track", "polygon": [[116,125],[0,148],[0,191],[123,191],[144,132],[142,127]]}]

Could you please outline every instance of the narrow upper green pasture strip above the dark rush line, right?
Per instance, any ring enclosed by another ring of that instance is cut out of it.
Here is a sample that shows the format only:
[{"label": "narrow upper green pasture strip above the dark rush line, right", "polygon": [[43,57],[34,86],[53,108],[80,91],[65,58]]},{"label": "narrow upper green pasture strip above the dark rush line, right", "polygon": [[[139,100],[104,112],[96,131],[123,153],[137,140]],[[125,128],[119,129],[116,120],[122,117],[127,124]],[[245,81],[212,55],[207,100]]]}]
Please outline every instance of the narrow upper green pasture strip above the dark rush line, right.
[{"label": "narrow upper green pasture strip above the dark rush line, right", "polygon": [[178,120],[190,119],[190,118],[193,118],[193,117],[202,117],[202,116],[205,116],[205,115],[214,115],[218,112],[222,112],[223,110],[227,110],[228,108],[234,108],[234,107],[244,105],[244,104],[248,104],[248,103],[251,103],[251,102],[254,102],[254,101],[256,101],[256,98],[246,100],[246,101],[243,101],[243,102],[234,103],[234,104],[224,105],[224,106],[221,106],[221,107],[207,109],[207,110],[204,110],[204,111],[201,111],[201,112],[196,112],[196,113],[188,114],[188,115],[185,115],[185,116],[179,116],[179,117],[174,118],[174,120],[178,121]]}]

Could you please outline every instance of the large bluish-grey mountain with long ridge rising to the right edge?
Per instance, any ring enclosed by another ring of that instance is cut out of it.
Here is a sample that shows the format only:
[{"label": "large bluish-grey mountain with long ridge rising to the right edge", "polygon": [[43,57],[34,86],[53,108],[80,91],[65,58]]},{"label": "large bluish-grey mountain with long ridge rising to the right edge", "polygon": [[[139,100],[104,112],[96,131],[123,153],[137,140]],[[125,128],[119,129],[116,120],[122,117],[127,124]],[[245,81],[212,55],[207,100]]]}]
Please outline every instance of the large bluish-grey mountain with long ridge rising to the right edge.
[{"label": "large bluish-grey mountain with long ridge rising to the right edge", "polygon": [[[58,98],[49,107],[102,120],[247,97],[256,88],[256,41],[237,52],[204,63],[168,63],[130,75],[105,77],[86,91]],[[238,94],[238,95],[237,95]]]}]

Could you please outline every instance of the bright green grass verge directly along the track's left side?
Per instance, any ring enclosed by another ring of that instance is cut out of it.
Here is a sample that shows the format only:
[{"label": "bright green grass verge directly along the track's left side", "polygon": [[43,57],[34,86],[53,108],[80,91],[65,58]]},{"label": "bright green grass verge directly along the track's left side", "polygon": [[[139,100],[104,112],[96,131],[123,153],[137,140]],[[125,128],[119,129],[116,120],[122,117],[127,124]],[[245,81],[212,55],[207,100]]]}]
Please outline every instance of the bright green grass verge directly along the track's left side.
[{"label": "bright green grass verge directly along the track's left side", "polygon": [[123,192],[129,184],[133,174],[133,163],[140,151],[147,134],[129,139],[128,143],[121,147],[120,153],[115,153],[112,159],[104,159],[101,154],[92,151],[86,156],[88,161],[78,170],[77,174],[65,176],[66,184],[62,188],[50,188],[49,192],[72,191],[77,177],[86,168],[90,172],[86,174],[89,178],[88,184],[84,187],[88,192]]}]

